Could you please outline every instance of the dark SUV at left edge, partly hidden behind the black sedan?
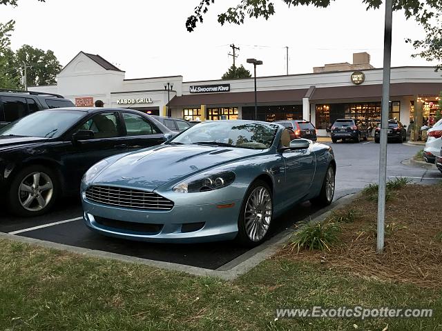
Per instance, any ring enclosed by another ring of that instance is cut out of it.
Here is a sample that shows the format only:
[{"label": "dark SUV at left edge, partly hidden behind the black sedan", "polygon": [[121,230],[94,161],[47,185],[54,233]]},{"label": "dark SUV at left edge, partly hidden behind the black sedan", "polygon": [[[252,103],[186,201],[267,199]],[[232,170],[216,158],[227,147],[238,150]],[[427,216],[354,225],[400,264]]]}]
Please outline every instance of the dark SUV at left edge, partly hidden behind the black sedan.
[{"label": "dark SUV at left edge, partly hidden behind the black sedan", "polygon": [[72,101],[59,94],[0,90],[0,128],[37,110],[73,106]]}]

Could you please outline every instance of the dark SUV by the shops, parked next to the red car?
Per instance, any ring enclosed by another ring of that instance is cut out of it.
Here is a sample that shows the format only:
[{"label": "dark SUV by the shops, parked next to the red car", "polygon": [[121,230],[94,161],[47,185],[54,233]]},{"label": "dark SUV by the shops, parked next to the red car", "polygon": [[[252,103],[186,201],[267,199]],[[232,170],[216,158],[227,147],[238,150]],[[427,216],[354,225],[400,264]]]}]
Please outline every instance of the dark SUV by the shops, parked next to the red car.
[{"label": "dark SUV by the shops, parked next to the red car", "polygon": [[367,140],[368,137],[367,126],[363,121],[357,121],[356,119],[336,119],[330,133],[334,143],[339,139],[342,141],[350,139],[358,143],[361,138]]}]

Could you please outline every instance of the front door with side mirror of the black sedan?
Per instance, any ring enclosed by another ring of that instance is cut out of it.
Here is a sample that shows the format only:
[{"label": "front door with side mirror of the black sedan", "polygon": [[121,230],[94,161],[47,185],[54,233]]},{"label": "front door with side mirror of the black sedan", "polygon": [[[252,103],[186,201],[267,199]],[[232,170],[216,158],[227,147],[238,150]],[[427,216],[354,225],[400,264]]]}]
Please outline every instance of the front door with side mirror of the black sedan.
[{"label": "front door with side mirror of the black sedan", "polygon": [[79,130],[93,131],[93,137],[65,143],[64,150],[60,151],[61,161],[67,174],[66,181],[70,188],[79,186],[81,177],[93,164],[128,150],[126,144],[120,141],[123,128],[118,112],[104,111],[93,114],[79,123],[72,134]]}]

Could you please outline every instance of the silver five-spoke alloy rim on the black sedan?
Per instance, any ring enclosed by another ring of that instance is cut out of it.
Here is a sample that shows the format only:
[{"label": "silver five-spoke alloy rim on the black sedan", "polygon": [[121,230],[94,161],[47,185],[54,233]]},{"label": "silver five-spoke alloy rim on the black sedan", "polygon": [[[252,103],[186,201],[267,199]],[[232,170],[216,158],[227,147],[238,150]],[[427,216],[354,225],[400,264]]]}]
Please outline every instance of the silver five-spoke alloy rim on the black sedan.
[{"label": "silver five-spoke alloy rim on the black sedan", "polygon": [[30,212],[38,212],[48,205],[53,192],[54,185],[48,174],[32,172],[20,183],[19,201],[24,209]]}]

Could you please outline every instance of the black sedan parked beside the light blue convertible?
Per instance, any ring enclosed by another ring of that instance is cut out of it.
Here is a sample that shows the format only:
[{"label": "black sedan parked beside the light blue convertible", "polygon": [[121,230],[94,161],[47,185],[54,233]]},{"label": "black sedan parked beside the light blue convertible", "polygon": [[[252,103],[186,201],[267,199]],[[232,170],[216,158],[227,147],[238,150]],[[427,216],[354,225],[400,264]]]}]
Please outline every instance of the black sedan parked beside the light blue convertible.
[{"label": "black sedan parked beside the light blue convertible", "polygon": [[175,134],[136,110],[35,112],[0,129],[0,199],[15,214],[44,214],[57,197],[77,194],[81,177],[98,161]]}]

